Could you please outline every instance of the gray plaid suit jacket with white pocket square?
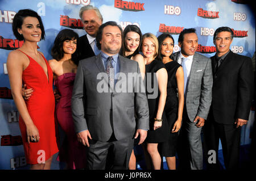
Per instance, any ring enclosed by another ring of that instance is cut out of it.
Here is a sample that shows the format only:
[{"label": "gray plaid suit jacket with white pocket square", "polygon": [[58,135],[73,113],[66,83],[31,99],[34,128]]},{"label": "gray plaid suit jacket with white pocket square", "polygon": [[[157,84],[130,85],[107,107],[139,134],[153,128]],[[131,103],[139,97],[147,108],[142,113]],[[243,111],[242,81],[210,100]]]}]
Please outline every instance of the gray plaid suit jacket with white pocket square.
[{"label": "gray plaid suit jacket with white pocket square", "polygon": [[[172,55],[172,59],[177,61],[180,52]],[[207,119],[210,103],[212,102],[212,64],[210,58],[199,53],[193,56],[190,78],[187,87],[185,105],[190,121],[196,116]]]}]

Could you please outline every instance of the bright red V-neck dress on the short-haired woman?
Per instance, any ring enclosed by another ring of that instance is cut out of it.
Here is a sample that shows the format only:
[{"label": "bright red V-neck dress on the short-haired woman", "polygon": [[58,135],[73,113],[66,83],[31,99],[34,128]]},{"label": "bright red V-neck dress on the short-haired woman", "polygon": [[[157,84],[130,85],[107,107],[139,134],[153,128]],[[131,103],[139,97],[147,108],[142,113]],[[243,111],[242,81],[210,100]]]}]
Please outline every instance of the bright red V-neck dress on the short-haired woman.
[{"label": "bright red V-neck dress on the short-haired woman", "polygon": [[26,161],[28,164],[37,164],[47,161],[49,157],[59,151],[55,134],[53,73],[43,55],[42,57],[47,65],[49,81],[42,66],[27,54],[26,56],[30,59],[30,64],[23,70],[22,81],[23,84],[27,85],[26,89],[34,89],[33,95],[26,100],[26,105],[33,123],[38,128],[39,142],[30,142],[28,144],[26,125],[21,116],[19,116],[19,127],[22,133]]}]

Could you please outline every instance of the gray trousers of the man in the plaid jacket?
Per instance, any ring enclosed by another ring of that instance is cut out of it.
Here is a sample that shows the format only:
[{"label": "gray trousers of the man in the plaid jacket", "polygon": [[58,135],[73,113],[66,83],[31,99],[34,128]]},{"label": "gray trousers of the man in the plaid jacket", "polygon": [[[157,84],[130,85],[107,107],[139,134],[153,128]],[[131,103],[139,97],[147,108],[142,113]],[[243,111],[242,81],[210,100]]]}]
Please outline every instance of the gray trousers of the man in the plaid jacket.
[{"label": "gray trousers of the man in the plaid jacket", "polygon": [[189,120],[187,111],[184,109],[177,146],[178,169],[203,170],[202,128],[197,128],[196,124]]}]

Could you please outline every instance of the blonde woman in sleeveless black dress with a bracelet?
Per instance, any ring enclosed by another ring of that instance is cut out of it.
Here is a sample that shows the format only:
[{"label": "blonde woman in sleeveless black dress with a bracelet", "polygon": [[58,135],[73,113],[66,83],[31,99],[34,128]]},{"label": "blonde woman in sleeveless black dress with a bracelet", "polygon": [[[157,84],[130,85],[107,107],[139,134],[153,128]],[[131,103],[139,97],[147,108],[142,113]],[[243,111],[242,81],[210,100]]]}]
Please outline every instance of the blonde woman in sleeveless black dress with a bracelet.
[{"label": "blonde woman in sleeveless black dress with a bracelet", "polygon": [[168,137],[168,124],[164,113],[168,74],[163,62],[155,59],[158,56],[158,40],[155,35],[146,33],[142,36],[141,50],[143,56],[137,54],[135,60],[142,58],[146,65],[144,83],[150,114],[150,130],[145,140],[146,150],[150,155],[152,166],[157,170],[161,167],[158,144],[167,141]]}]

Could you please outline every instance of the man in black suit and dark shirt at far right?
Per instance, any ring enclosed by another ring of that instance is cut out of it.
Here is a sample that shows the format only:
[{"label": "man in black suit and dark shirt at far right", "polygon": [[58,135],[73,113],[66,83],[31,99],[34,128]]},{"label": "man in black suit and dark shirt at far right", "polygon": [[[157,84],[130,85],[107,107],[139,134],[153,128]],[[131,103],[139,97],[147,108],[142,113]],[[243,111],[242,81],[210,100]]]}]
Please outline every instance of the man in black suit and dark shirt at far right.
[{"label": "man in black suit and dark shirt at far right", "polygon": [[[219,169],[216,161],[219,139],[226,169],[238,169],[241,127],[249,119],[253,95],[252,62],[251,58],[233,53],[229,49],[233,36],[229,27],[217,28],[213,36],[216,54],[211,57],[212,105],[204,127],[208,169]],[[212,150],[215,151],[215,158]]]}]

